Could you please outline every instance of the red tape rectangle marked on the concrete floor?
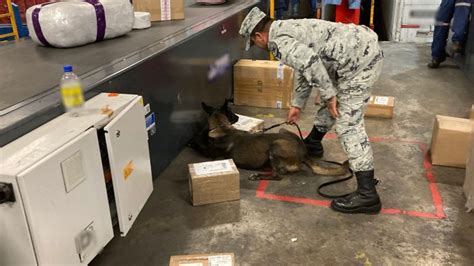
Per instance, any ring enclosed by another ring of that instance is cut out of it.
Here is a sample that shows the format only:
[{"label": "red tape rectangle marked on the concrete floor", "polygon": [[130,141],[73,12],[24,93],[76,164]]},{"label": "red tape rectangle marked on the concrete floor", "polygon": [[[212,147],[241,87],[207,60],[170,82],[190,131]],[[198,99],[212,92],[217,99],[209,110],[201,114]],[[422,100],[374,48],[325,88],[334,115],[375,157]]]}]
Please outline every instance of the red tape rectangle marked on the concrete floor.
[{"label": "red tape rectangle marked on the concrete floor", "polygon": [[[304,136],[307,136],[308,133],[304,132]],[[325,137],[326,139],[335,139],[337,138],[336,134],[329,133]],[[428,212],[418,212],[418,211],[408,211],[402,210],[397,208],[382,208],[381,213],[383,214],[391,214],[391,215],[407,215],[411,217],[419,217],[419,218],[427,218],[427,219],[443,219],[446,217],[443,208],[443,201],[441,199],[441,195],[438,191],[438,186],[435,182],[435,177],[432,171],[432,164],[430,162],[430,157],[428,150],[426,148],[426,144],[417,141],[417,140],[403,140],[403,139],[393,139],[393,138],[384,138],[384,137],[372,137],[370,138],[371,142],[398,142],[398,143],[409,143],[409,144],[417,144],[420,151],[423,153],[424,160],[423,160],[423,167],[425,168],[426,179],[429,183],[429,188],[431,192],[431,198],[433,201],[433,205],[435,208],[435,213],[428,213]],[[265,190],[269,185],[268,180],[262,180],[259,182],[256,197],[261,199],[269,199],[269,200],[276,200],[276,201],[284,201],[284,202],[292,202],[292,203],[302,203],[320,207],[329,207],[331,202],[329,200],[315,200],[315,199],[307,199],[307,198],[298,198],[298,197],[290,197],[290,196],[283,196],[283,195],[275,195],[266,193]]]}]

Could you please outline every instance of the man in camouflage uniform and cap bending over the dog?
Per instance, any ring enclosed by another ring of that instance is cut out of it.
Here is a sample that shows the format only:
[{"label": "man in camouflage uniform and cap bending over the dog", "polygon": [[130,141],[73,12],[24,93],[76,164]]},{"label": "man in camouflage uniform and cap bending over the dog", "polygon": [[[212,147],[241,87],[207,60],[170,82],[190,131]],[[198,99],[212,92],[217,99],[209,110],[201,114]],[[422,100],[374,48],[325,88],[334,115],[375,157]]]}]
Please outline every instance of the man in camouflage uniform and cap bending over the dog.
[{"label": "man in camouflage uniform and cap bending over the dog", "polygon": [[254,43],[294,69],[295,84],[288,122],[298,120],[312,88],[321,107],[309,136],[308,153],[323,156],[322,139],[335,126],[336,134],[357,177],[357,190],[331,202],[345,213],[378,213],[382,208],[374,178],[372,147],[364,114],[372,85],[382,70],[378,36],[365,26],[319,19],[273,21],[258,8],[245,17],[239,34],[246,49]]}]

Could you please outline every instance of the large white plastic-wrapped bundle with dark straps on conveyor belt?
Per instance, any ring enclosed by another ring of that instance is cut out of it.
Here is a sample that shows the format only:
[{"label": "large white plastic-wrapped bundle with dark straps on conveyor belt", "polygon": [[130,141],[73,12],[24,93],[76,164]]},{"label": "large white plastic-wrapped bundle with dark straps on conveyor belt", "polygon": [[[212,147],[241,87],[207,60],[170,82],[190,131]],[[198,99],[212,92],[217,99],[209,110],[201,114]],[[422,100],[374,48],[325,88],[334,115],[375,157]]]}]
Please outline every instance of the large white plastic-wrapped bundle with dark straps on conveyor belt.
[{"label": "large white plastic-wrapped bundle with dark straps on conveyor belt", "polygon": [[74,47],[132,30],[129,0],[69,0],[35,5],[26,11],[30,36],[44,46]]}]

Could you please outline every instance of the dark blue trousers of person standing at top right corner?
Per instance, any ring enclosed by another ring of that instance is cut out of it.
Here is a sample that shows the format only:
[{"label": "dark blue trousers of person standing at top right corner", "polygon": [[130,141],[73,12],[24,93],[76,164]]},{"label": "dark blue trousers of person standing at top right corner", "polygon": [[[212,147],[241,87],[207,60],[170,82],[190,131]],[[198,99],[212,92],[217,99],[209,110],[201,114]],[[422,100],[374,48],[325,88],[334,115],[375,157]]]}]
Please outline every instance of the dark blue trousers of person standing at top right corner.
[{"label": "dark blue trousers of person standing at top right corner", "polygon": [[469,22],[470,0],[442,0],[436,14],[436,24],[431,44],[431,56],[433,59],[443,60],[446,58],[446,43],[449,35],[451,19],[453,25],[453,42],[464,43]]}]

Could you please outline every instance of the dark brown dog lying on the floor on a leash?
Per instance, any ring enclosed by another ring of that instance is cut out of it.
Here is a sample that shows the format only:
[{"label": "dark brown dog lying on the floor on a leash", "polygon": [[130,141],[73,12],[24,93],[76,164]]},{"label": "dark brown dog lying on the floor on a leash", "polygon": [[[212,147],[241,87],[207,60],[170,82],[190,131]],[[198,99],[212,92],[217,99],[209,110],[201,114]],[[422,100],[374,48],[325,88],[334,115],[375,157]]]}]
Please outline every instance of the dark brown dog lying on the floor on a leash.
[{"label": "dark brown dog lying on the floor on a leash", "polygon": [[279,133],[240,131],[232,126],[222,109],[208,110],[213,110],[208,119],[211,146],[223,151],[224,157],[232,158],[240,168],[261,170],[266,165],[271,166],[271,175],[257,173],[249,177],[251,180],[280,180],[282,174],[298,172],[303,165],[309,166],[317,175],[343,175],[348,172],[347,163],[328,168],[313,161],[303,141],[288,130],[281,129]]}]

